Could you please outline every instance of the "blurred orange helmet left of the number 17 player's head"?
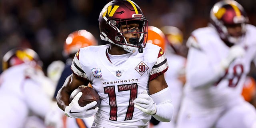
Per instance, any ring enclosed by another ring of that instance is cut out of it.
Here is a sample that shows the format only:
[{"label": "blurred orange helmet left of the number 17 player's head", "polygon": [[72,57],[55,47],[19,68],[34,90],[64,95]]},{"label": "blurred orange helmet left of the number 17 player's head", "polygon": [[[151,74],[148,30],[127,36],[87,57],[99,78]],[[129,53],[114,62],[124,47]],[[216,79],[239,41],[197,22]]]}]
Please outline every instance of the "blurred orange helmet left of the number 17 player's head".
[{"label": "blurred orange helmet left of the number 17 player's head", "polygon": [[64,56],[70,56],[83,48],[90,45],[98,45],[95,37],[86,30],[77,30],[68,35],[63,47]]}]

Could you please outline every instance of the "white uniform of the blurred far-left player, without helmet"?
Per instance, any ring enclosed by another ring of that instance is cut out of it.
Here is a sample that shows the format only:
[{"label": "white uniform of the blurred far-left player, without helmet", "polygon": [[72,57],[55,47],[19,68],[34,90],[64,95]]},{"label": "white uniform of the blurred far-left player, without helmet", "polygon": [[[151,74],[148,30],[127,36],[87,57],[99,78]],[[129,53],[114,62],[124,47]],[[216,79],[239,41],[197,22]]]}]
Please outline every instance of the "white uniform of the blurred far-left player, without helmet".
[{"label": "white uniform of the blurred far-left player, without helmet", "polygon": [[[44,117],[50,108],[50,96],[42,85],[28,77],[27,64],[12,66],[0,76],[0,125],[2,128],[23,128],[30,114]],[[39,128],[39,126],[38,126]]]}]

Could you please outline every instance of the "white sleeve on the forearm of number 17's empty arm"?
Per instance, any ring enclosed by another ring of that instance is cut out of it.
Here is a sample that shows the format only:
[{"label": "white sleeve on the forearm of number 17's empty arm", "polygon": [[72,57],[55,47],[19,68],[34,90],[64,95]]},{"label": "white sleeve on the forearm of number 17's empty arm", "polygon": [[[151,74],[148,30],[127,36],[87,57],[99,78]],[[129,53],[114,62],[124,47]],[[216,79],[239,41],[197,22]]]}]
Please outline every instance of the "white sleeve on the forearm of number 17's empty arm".
[{"label": "white sleeve on the forearm of number 17's empty arm", "polygon": [[150,95],[156,103],[156,114],[152,115],[159,121],[170,122],[173,118],[173,105],[169,87]]}]

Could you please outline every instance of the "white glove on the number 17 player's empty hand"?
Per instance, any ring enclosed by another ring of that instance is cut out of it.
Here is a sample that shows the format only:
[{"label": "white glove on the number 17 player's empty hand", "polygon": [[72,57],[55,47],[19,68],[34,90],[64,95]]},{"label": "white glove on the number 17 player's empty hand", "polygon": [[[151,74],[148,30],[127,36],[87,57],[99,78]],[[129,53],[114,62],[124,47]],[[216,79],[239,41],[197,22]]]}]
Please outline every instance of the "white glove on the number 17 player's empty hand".
[{"label": "white glove on the number 17 player's empty hand", "polygon": [[144,90],[142,94],[138,95],[134,101],[134,107],[138,108],[142,112],[148,115],[156,114],[156,104],[154,103],[153,99],[148,95],[148,92]]}]

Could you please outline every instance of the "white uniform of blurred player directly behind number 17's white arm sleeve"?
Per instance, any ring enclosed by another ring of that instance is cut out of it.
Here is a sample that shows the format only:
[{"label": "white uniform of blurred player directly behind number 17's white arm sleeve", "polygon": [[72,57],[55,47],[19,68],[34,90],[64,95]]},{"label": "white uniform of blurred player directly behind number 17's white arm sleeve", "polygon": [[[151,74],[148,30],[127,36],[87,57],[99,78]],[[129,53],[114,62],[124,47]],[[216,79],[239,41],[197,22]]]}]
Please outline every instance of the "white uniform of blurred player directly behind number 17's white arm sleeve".
[{"label": "white uniform of blurred player directly behind number 17's white arm sleeve", "polygon": [[167,53],[166,58],[169,68],[164,73],[164,78],[172,92],[172,104],[174,106],[173,120],[170,122],[159,122],[154,128],[175,128],[178,111],[180,109],[180,103],[182,99],[183,83],[178,77],[184,73],[186,58],[174,53]]}]

